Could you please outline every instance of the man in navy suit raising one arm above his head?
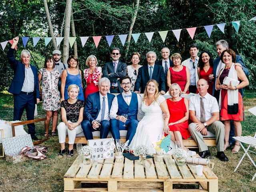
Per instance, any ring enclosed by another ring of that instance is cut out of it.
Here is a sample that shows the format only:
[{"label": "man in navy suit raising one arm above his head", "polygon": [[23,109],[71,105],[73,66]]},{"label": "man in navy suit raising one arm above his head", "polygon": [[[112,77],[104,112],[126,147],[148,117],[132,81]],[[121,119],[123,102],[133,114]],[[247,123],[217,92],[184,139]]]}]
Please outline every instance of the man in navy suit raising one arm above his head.
[{"label": "man in navy suit raising one arm above his head", "polygon": [[[8,62],[14,71],[12,84],[8,90],[14,95],[13,120],[21,120],[24,109],[26,109],[27,120],[34,120],[35,104],[39,102],[39,84],[36,67],[30,65],[30,52],[23,50],[20,60],[14,58],[14,48],[18,44],[19,37],[13,38],[13,44],[7,54]],[[28,134],[32,140],[38,140],[35,136],[35,124],[28,124]]]}]

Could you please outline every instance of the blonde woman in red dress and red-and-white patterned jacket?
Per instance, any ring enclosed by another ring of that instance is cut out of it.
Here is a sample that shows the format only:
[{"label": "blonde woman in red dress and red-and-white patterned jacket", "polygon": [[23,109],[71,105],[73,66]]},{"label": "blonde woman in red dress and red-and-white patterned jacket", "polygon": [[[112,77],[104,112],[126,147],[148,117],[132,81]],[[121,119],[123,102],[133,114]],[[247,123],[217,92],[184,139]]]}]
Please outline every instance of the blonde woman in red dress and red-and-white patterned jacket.
[{"label": "blonde woman in red dress and red-and-white patterned jacket", "polygon": [[88,69],[84,70],[84,79],[86,81],[84,96],[86,99],[89,94],[99,90],[98,82],[102,77],[102,68],[97,67],[98,60],[94,55],[88,56],[85,64],[89,66]]}]

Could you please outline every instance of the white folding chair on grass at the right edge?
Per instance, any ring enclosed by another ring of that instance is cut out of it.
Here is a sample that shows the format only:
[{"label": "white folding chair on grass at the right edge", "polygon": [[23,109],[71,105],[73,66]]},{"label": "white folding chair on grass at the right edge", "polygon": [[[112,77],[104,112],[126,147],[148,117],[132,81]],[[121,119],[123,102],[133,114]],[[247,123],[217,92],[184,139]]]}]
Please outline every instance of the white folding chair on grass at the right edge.
[{"label": "white folding chair on grass at the right edge", "polygon": [[[254,154],[256,154],[256,152],[249,150],[251,146],[254,146],[256,148],[256,132],[254,137],[252,136],[240,136],[240,137],[233,137],[235,140],[239,141],[240,146],[242,147],[242,149],[244,150],[244,155],[242,156],[240,162],[238,163],[238,165],[236,166],[234,172],[238,169],[239,165],[241,164],[242,160],[244,159],[245,155],[248,156],[248,158],[251,160],[252,164],[254,165],[254,167],[256,168],[256,164],[255,162],[252,160],[252,158],[250,157],[250,155],[248,154],[248,152],[252,152]],[[244,148],[243,144],[248,144],[249,146],[247,148]],[[252,181],[255,179],[256,177],[256,173],[254,174],[254,176],[252,176]]]}]

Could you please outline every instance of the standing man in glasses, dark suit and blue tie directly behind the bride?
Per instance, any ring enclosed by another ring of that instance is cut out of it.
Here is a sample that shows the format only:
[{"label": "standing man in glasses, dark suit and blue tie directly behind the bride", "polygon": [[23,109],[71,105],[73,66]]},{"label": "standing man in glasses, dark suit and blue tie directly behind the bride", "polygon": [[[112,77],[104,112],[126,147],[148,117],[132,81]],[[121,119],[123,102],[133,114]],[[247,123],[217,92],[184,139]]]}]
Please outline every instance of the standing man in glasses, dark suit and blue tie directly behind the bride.
[{"label": "standing man in glasses, dark suit and blue tie directly behind the bride", "polygon": [[141,87],[141,93],[144,93],[146,85],[149,80],[154,79],[158,82],[158,90],[161,94],[165,94],[165,77],[164,68],[160,65],[155,65],[156,53],[150,51],[146,54],[148,64],[139,68],[138,76],[134,85],[134,92],[140,93],[139,88]]}]

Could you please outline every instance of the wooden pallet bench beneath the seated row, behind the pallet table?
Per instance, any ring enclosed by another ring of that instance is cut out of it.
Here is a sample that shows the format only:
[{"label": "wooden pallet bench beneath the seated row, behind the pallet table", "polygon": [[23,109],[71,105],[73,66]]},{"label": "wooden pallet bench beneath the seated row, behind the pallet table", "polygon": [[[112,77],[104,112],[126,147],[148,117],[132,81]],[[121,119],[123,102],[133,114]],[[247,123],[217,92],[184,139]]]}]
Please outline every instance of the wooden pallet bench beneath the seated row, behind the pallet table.
[{"label": "wooden pallet bench beneath the seated row, behind the pallet table", "polygon": [[[99,137],[94,137],[94,139],[99,139]],[[120,139],[123,142],[126,141],[126,137],[121,137]],[[204,138],[204,142],[207,146],[216,146],[216,138]],[[68,136],[66,136],[66,143],[68,143]],[[75,143],[87,144],[87,140],[85,137],[76,137]],[[184,139],[183,144],[187,148],[198,148],[193,138]]]}]

